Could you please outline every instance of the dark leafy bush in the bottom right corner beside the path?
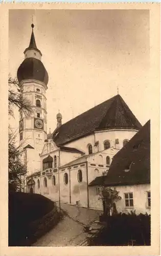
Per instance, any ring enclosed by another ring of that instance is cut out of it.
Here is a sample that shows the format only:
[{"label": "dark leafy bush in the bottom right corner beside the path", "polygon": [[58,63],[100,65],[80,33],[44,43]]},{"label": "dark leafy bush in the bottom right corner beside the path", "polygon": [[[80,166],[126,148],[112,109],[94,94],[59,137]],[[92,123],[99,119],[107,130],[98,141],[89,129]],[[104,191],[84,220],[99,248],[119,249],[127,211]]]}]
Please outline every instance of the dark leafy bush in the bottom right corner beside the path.
[{"label": "dark leafy bush in the bottom right corner beside the path", "polygon": [[101,216],[106,226],[98,236],[90,242],[90,245],[150,245],[150,215],[116,214]]}]

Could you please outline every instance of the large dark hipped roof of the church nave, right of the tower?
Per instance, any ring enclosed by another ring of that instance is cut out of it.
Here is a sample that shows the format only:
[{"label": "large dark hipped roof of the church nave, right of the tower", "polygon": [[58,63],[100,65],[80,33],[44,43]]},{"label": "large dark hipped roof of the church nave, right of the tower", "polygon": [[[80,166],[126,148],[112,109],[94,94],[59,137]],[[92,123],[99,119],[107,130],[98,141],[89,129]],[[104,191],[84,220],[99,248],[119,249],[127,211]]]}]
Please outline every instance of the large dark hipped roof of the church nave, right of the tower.
[{"label": "large dark hipped roof of the church nave, right of the tower", "polygon": [[56,144],[63,145],[99,130],[140,130],[141,127],[141,123],[118,94],[62,124],[53,133],[53,140]]}]

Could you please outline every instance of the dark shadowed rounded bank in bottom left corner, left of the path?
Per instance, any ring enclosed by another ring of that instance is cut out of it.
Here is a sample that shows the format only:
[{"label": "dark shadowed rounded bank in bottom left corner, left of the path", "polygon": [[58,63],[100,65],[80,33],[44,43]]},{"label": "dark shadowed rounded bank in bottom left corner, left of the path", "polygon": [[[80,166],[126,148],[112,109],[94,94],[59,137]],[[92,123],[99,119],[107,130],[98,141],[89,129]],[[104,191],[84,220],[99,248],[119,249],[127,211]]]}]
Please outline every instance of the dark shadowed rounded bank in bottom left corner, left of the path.
[{"label": "dark shadowed rounded bank in bottom left corner, left of the path", "polygon": [[[9,246],[26,245],[32,237],[32,223],[57,207],[53,201],[39,194],[9,193]],[[52,216],[48,219],[52,219]],[[48,221],[49,222],[49,221]],[[39,222],[38,224],[39,225]],[[43,223],[43,226],[45,223]],[[48,224],[49,225],[49,224]]]}]

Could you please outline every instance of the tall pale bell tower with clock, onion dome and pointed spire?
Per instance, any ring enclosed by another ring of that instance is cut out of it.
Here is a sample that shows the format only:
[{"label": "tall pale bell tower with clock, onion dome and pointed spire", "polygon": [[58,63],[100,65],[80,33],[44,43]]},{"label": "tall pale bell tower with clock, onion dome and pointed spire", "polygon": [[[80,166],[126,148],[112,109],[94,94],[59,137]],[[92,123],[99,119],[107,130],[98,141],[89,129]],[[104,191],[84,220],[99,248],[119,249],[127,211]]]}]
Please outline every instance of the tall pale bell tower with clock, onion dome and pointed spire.
[{"label": "tall pale bell tower with clock, onion dome and pointed spire", "polygon": [[[19,111],[19,142],[22,147],[34,149],[34,161],[39,162],[44,140],[47,139],[47,98],[48,73],[41,62],[42,54],[36,46],[34,25],[30,44],[25,49],[25,59],[17,71],[17,78],[22,97],[31,103],[32,113],[26,116]],[[37,160],[36,160],[37,159]],[[37,168],[36,168],[37,170]]]}]

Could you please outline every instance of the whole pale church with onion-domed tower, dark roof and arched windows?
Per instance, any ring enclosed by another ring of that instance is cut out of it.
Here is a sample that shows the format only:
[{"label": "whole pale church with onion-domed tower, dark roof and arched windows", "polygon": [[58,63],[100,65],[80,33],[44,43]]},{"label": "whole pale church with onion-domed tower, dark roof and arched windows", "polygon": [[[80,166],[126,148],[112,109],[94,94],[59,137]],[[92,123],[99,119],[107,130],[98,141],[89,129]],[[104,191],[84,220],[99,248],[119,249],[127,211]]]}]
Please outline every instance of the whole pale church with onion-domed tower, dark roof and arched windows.
[{"label": "whole pale church with onion-domed tower, dark roof and arched windows", "polygon": [[31,102],[32,114],[19,112],[21,159],[27,166],[26,190],[55,201],[103,209],[98,186],[108,174],[112,158],[140,131],[142,125],[118,94],[47,134],[48,73],[41,62],[32,25],[29,47],[17,71],[21,94]]}]

